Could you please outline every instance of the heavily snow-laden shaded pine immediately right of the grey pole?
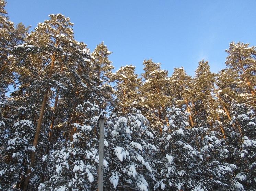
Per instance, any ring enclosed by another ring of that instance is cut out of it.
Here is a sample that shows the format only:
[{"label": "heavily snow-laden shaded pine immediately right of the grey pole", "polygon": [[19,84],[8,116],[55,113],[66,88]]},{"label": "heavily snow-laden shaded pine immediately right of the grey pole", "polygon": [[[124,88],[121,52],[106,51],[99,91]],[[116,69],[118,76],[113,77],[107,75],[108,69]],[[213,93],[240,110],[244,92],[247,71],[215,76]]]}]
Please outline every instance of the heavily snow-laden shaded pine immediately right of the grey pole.
[{"label": "heavily snow-laden shaded pine immediately right of the grey pole", "polygon": [[[153,153],[154,136],[140,110],[117,117],[113,113],[107,122],[105,145],[105,187],[109,190],[152,190],[155,183]],[[108,181],[109,180],[109,181]]]}]

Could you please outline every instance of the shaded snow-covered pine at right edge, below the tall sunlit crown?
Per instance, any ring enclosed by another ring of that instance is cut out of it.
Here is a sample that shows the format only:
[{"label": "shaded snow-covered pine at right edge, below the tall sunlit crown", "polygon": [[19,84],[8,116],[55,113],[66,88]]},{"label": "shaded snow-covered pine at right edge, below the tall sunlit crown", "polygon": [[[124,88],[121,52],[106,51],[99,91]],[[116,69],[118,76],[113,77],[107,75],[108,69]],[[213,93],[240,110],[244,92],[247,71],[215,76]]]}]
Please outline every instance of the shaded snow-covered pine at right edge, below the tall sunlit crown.
[{"label": "shaded snow-covered pine at right edge, below the tall sunlit crown", "polygon": [[[256,187],[256,114],[247,104],[233,103],[226,149],[228,162],[236,165],[233,174],[236,190],[254,190]],[[239,131],[240,129],[240,131]]]}]

